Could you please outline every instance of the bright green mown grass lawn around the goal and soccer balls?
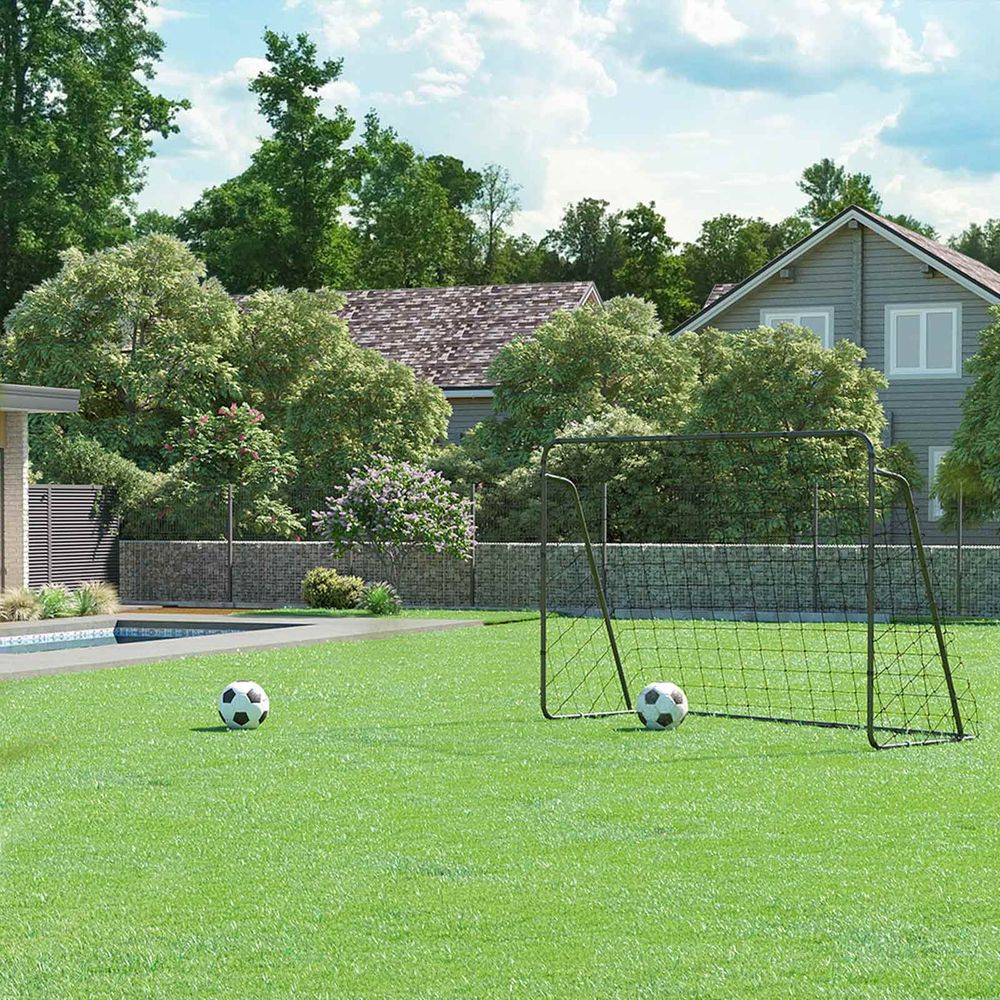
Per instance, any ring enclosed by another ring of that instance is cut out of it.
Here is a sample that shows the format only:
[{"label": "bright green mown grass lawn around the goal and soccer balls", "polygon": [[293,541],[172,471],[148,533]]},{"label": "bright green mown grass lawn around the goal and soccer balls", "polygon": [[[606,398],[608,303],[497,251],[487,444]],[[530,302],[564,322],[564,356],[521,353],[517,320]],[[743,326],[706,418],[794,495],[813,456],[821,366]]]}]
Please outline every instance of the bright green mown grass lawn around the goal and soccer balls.
[{"label": "bright green mown grass lawn around the goal and soccer balls", "polygon": [[998,995],[1000,628],[980,739],[883,753],[545,722],[537,628],[0,686],[0,997]]}]

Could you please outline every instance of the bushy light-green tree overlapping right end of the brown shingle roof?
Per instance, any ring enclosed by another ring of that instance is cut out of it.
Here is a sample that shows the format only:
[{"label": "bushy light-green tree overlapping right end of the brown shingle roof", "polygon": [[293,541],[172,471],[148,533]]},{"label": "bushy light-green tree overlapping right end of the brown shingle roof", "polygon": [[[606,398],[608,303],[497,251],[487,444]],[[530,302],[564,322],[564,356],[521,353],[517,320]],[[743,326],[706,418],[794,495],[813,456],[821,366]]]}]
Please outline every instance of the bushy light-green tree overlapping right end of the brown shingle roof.
[{"label": "bushy light-green tree overlapping right end of the brown shingle roof", "polygon": [[611,299],[556,313],[503,347],[490,368],[496,416],[468,437],[520,464],[563,425],[619,407],[675,430],[693,389],[690,354],[662,335],[651,303]]}]

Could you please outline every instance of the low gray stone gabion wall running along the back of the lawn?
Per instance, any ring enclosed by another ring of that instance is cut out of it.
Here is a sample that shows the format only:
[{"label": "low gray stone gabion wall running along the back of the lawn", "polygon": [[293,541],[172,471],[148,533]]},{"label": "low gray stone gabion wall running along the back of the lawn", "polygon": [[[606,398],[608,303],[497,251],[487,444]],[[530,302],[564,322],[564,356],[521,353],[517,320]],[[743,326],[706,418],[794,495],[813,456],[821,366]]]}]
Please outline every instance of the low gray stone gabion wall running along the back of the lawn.
[{"label": "low gray stone gabion wall running along the back of the lawn", "polygon": [[[952,546],[928,546],[942,610],[956,610]],[[382,577],[377,558],[358,549],[330,556],[322,542],[237,542],[233,601],[244,606],[301,602],[302,577],[333,566],[366,580]],[[894,614],[924,614],[922,583],[908,546],[877,550],[877,602]],[[580,545],[553,545],[549,604],[593,604]],[[228,572],[224,542],[122,541],[122,599],[144,603],[224,604]],[[863,613],[865,558],[856,546],[609,545],[607,590],[617,609],[657,603],[677,612],[736,608],[747,611],[850,610]],[[531,543],[484,543],[476,559],[461,562],[417,555],[406,567],[403,598],[413,607],[531,608],[538,606],[539,552]],[[1000,547],[963,551],[962,612],[1000,617]]]}]

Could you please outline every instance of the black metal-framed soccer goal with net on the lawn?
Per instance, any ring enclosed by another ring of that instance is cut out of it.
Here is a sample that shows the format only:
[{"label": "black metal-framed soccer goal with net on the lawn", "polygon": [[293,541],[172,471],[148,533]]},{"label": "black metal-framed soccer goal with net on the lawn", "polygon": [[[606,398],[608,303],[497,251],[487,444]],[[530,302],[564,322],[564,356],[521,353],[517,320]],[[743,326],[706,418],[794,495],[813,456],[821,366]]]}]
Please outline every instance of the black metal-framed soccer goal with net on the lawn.
[{"label": "black metal-framed soccer goal with net on the lawn", "polygon": [[967,739],[907,481],[856,431],[567,438],[541,476],[541,703],[631,712],[673,681],[692,714]]}]

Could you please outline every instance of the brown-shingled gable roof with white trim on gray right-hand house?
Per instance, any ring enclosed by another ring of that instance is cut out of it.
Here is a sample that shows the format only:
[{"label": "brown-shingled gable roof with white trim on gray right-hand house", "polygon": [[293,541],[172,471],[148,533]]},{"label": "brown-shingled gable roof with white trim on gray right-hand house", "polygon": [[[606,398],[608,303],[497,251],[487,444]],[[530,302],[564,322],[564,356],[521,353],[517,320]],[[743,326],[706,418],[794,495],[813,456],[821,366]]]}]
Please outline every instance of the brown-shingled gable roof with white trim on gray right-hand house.
[{"label": "brown-shingled gable roof with white trim on gray right-hand house", "polygon": [[[777,274],[783,267],[787,267],[803,254],[808,253],[817,244],[822,243],[828,236],[837,232],[850,222],[857,222],[868,226],[869,229],[887,239],[890,243],[906,250],[918,260],[936,268],[942,274],[947,275],[953,281],[962,285],[970,292],[980,296],[992,305],[1000,303],[1000,273],[991,267],[987,267],[981,261],[967,257],[964,253],[952,250],[951,247],[929,239],[920,233],[914,232],[901,226],[898,222],[893,222],[867,209],[852,205],[845,208],[832,219],[828,219],[818,229],[813,230],[804,239],[793,244],[784,253],[779,254],[773,260],[768,261],[760,270],[755,271],[749,277],[731,285],[728,290],[716,296],[717,289],[723,286],[716,285],[712,289],[705,305],[690,319],[674,327],[671,334],[680,333],[682,330],[693,330],[704,326],[715,316],[718,316],[723,309],[727,309],[734,302],[739,301],[748,292],[753,291],[758,285],[763,284],[768,278]],[[714,296],[714,297],[713,297]]]}]

